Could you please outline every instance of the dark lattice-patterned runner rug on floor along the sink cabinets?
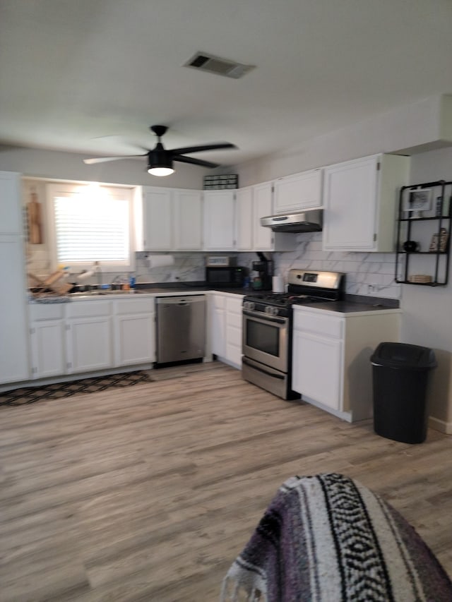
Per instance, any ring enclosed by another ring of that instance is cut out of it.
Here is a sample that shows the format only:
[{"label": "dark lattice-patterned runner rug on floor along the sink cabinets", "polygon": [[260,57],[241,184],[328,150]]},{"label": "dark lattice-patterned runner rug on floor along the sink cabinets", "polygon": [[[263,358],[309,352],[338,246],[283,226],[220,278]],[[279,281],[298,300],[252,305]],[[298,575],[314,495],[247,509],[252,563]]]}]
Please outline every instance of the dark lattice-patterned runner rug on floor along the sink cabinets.
[{"label": "dark lattice-patterned runner rug on floor along the sink cabinets", "polygon": [[83,393],[96,393],[97,391],[105,391],[111,387],[130,387],[139,383],[150,383],[153,380],[148,371],[140,370],[71,380],[69,383],[54,383],[53,385],[43,385],[41,387],[23,387],[21,389],[0,392],[0,407],[23,406],[48,401],[49,399],[62,399]]}]

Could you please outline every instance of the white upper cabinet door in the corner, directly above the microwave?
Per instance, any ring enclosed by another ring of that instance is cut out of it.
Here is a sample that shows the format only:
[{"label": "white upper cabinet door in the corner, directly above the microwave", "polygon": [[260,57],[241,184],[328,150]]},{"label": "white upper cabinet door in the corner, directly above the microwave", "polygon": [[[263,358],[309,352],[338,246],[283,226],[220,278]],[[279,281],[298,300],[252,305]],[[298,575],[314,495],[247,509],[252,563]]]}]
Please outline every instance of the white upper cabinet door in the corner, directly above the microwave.
[{"label": "white upper cabinet door in the corner, directly above the microwave", "polygon": [[206,191],[204,193],[204,246],[206,250],[234,250],[234,232],[234,192]]}]

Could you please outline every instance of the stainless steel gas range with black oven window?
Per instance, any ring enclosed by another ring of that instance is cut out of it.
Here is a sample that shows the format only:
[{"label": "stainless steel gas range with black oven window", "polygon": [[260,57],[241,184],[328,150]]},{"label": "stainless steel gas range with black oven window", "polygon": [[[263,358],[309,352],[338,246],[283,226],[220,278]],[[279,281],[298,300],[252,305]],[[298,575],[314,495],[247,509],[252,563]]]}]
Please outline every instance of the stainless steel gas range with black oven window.
[{"label": "stainless steel gas range with black oven window", "polygon": [[287,293],[253,292],[243,303],[242,377],[283,399],[292,391],[292,306],[343,299],[341,272],[290,270]]}]

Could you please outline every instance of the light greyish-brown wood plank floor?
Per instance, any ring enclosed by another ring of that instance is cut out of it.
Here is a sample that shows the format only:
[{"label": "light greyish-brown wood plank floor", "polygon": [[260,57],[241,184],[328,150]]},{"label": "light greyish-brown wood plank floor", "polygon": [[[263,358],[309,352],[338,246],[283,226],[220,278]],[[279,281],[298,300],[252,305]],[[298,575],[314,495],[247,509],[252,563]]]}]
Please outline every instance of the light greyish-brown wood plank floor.
[{"label": "light greyish-brown wood plank floor", "polygon": [[218,362],[154,373],[0,408],[1,601],[216,601],[280,484],[331,471],[383,495],[452,574],[450,436],[387,440]]}]

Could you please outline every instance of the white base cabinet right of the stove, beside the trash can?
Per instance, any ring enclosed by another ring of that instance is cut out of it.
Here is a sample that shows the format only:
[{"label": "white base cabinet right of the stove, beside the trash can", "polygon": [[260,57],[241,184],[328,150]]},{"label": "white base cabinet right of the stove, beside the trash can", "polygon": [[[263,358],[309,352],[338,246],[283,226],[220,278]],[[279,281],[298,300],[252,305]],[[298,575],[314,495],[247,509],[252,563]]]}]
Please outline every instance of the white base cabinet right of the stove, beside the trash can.
[{"label": "white base cabinet right of the stove, beside the trash can", "polygon": [[400,312],[336,314],[294,308],[292,389],[347,421],[372,416],[370,356],[382,341],[400,339]]}]

